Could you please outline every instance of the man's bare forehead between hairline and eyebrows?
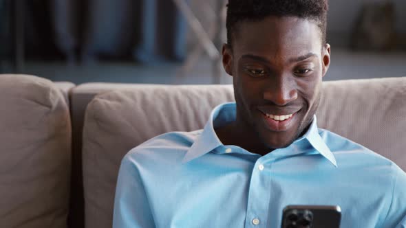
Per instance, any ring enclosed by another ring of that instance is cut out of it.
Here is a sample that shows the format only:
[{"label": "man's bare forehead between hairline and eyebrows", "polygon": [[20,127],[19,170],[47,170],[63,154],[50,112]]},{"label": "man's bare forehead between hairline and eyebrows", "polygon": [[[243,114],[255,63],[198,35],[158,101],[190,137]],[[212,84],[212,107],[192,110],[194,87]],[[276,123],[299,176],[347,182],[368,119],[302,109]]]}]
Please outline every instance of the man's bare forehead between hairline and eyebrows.
[{"label": "man's bare forehead between hairline and eyebrows", "polygon": [[233,38],[235,54],[295,56],[320,50],[321,30],[317,23],[294,16],[268,16],[261,21],[244,21],[237,25]]}]

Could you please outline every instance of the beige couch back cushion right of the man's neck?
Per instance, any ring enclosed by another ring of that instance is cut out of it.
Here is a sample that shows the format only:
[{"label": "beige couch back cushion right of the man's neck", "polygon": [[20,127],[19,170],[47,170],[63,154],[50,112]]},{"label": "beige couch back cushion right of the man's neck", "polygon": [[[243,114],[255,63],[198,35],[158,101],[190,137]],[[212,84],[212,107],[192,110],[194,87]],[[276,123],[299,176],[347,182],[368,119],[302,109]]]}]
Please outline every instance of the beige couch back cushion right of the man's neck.
[{"label": "beige couch back cushion right of the man's neck", "polygon": [[406,170],[406,77],[325,82],[317,117]]}]

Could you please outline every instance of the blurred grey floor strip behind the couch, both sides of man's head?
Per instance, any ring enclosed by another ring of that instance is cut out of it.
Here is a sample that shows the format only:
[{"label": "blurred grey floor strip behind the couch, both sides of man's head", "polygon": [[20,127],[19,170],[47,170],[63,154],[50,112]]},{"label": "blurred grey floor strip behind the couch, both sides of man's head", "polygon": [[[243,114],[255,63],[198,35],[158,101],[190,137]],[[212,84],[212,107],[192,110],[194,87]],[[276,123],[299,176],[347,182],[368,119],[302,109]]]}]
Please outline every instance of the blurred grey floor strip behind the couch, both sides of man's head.
[{"label": "blurred grey floor strip behind the couch, both sides of man's head", "polygon": [[[332,63],[324,80],[352,78],[406,77],[406,53],[353,53],[339,49],[332,51]],[[197,66],[182,73],[182,64],[136,65],[132,62],[104,62],[87,66],[67,66],[62,62],[27,62],[24,73],[49,78],[53,81],[120,82],[153,84],[213,84],[213,67],[206,58]],[[183,75],[183,76],[182,76]],[[220,84],[231,84],[225,72]]]}]

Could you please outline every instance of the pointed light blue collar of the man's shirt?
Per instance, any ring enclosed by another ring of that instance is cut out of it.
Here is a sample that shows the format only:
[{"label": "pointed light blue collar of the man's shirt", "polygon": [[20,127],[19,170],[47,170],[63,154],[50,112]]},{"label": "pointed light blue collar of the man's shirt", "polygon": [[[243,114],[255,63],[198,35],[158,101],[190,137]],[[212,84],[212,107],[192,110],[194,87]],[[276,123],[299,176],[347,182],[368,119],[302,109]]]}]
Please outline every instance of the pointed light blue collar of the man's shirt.
[{"label": "pointed light blue collar of the man's shirt", "polygon": [[[219,146],[224,146],[220,139],[217,137],[214,126],[224,125],[228,122],[233,122],[236,115],[236,105],[235,102],[220,104],[215,107],[211,112],[209,121],[204,126],[202,135],[196,139],[191,148],[184,156],[182,163],[187,163],[197,157],[201,157],[206,153],[209,153]],[[325,144],[324,140],[319,134],[317,128],[317,118],[314,115],[312,124],[308,131],[299,139],[295,140],[291,145],[295,146],[299,141],[307,139],[308,143],[325,159],[328,159],[334,166],[337,166],[336,159],[334,158],[333,153],[330,148]]]}]

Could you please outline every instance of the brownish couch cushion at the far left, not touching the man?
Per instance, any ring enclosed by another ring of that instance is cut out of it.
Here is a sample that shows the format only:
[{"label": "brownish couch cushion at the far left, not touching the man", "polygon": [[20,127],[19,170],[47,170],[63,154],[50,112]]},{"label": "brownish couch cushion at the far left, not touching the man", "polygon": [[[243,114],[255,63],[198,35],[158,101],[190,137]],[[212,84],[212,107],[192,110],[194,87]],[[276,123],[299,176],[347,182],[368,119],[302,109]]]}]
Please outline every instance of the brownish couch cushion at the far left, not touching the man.
[{"label": "brownish couch cushion at the far left, not touching the man", "polygon": [[67,227],[70,114],[43,78],[0,75],[1,227]]}]

